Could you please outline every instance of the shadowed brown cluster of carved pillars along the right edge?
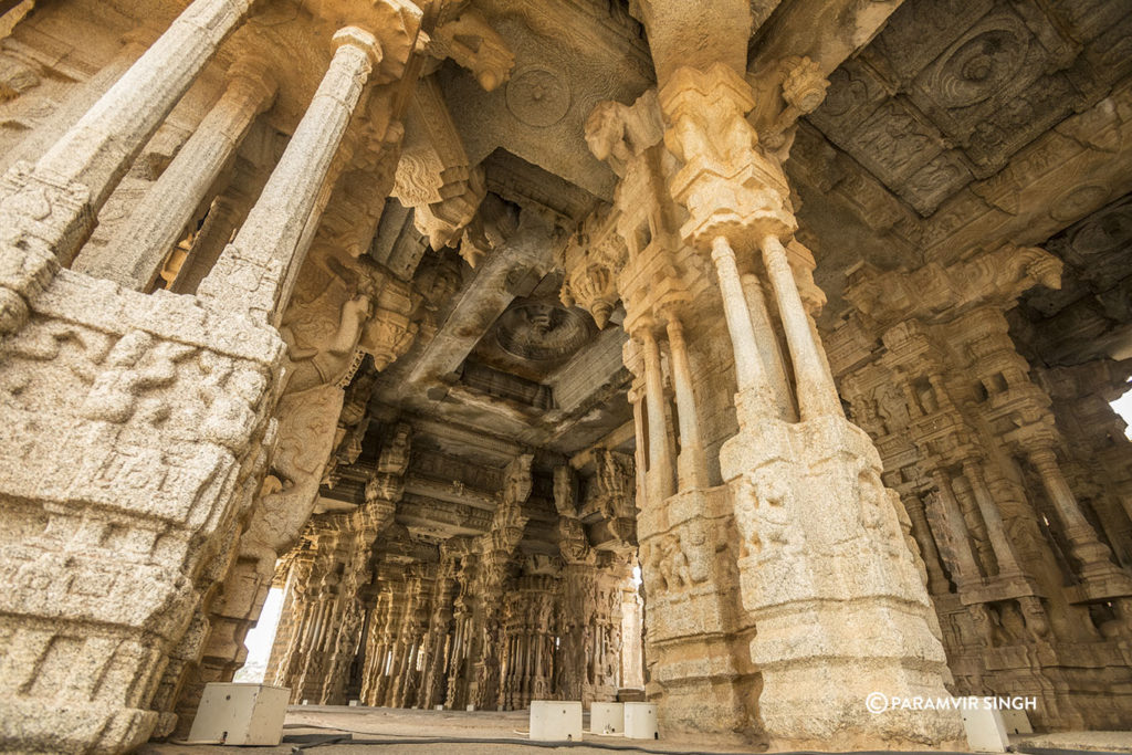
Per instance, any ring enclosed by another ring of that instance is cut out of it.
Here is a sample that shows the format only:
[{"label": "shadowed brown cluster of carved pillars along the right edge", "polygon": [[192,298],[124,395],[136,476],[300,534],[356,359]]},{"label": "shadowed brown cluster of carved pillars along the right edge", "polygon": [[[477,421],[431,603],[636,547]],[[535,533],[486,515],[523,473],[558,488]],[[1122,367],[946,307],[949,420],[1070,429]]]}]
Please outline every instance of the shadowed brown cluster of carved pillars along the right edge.
[{"label": "shadowed brown cluster of carved pillars along the right edge", "polygon": [[[1132,446],[1090,395],[1096,385],[1066,377],[1066,395],[1049,395],[1043,383],[1056,383],[1027,363],[1007,326],[1005,311],[1032,285],[1011,271],[1053,257],[994,254],[935,269],[963,281],[962,302],[892,297],[854,311],[832,336],[838,374],[908,511],[959,690],[1024,689],[1039,727],[1122,726],[1132,704],[1118,692],[1132,678]],[[995,275],[972,274],[980,265]],[[907,285],[903,275],[861,271],[849,297]],[[869,338],[885,349],[858,359],[850,344]],[[1105,361],[1058,371],[1105,376]],[[1065,421],[1089,403],[1107,427]],[[1087,669],[1073,660],[1082,657],[1094,659]]]}]

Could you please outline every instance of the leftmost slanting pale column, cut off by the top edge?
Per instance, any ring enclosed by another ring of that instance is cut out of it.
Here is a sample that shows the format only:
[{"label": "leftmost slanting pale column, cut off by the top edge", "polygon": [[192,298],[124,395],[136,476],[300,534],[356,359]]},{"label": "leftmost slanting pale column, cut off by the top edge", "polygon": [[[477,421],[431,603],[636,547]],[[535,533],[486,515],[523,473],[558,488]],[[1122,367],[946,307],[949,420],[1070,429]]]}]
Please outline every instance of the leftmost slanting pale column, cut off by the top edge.
[{"label": "leftmost slanting pale column, cut off by the top edge", "polygon": [[0,181],[0,334],[89,237],[98,208],[252,0],[196,0],[32,166]]}]

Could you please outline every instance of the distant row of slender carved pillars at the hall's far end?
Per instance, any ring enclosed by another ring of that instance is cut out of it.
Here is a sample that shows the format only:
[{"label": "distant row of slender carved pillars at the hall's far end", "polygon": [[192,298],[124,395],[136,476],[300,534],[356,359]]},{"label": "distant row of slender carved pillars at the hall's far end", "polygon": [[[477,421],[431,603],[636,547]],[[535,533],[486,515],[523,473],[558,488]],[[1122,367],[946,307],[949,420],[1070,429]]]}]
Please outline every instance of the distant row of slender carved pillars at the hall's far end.
[{"label": "distant row of slender carved pillars at the hall's far end", "polygon": [[[482,607],[500,597],[479,592],[475,555],[441,551],[438,561],[406,565],[375,548],[374,580],[361,593],[365,618],[352,626],[335,620],[342,554],[334,538],[286,563],[267,681],[289,686],[293,702],[358,700],[426,710],[516,710],[555,698],[589,703],[614,700],[625,654],[640,659],[640,650],[632,650],[640,643],[640,615],[631,610],[625,636],[621,610],[625,601],[636,608],[636,593],[619,567],[520,574],[506,585],[498,632],[484,633]],[[350,662],[329,663],[334,646],[349,647]],[[499,669],[487,698],[480,694],[484,659]]]}]

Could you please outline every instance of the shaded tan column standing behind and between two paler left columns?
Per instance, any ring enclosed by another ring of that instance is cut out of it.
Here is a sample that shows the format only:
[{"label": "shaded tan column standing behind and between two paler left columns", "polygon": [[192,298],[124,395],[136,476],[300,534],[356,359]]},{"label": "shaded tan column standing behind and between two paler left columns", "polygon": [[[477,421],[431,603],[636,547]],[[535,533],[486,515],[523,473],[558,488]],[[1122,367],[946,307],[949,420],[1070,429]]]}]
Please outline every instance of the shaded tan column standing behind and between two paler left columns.
[{"label": "shaded tan column standing behind and between two paler left columns", "polygon": [[92,259],[75,268],[135,291],[147,291],[185,233],[205,194],[231,161],[255,118],[271,106],[275,80],[258,61],[237,62],[228,88],[162,172],[126,225]]}]

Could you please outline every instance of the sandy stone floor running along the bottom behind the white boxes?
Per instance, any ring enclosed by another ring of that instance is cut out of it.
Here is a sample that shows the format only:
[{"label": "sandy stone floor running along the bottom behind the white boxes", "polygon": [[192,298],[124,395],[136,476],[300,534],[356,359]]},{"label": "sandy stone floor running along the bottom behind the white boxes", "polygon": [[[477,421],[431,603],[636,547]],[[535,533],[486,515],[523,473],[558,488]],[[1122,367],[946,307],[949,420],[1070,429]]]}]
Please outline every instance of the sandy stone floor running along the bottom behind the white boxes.
[{"label": "sandy stone floor running along the bottom behind the white boxes", "polygon": [[[585,741],[571,745],[531,743],[526,739],[526,711],[418,711],[388,707],[295,705],[289,709],[283,744],[246,747],[245,752],[276,754],[317,752],[319,755],[531,755],[569,750],[573,755],[627,753],[727,754],[752,753],[749,747],[705,745],[703,741],[661,739],[642,741],[586,733]],[[586,715],[589,718],[589,715]],[[1013,737],[1018,752],[1132,753],[1132,732],[1084,731]],[[231,755],[231,748],[211,745],[153,743],[139,755]]]}]

